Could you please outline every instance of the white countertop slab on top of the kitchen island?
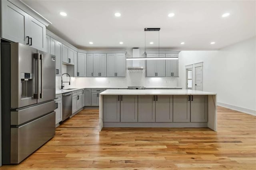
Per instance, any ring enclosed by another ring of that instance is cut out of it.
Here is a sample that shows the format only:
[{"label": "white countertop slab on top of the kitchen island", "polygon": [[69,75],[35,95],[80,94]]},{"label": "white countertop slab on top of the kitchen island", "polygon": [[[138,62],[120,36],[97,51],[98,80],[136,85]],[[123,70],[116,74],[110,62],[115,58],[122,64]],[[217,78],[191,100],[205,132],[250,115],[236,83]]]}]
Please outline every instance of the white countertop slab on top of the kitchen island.
[{"label": "white countertop slab on top of the kitchen island", "polygon": [[186,89],[108,89],[100,93],[100,95],[216,95],[216,93]]}]

